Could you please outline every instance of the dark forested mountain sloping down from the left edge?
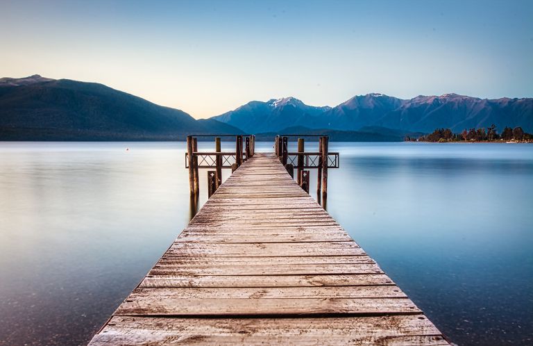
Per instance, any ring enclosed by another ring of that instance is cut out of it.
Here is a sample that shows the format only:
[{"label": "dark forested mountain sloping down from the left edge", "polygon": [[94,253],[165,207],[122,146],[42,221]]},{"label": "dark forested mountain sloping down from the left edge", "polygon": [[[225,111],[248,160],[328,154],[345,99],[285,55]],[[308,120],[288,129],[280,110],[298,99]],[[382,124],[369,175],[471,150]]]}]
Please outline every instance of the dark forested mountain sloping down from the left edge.
[{"label": "dark forested mountain sloping down from the left edge", "polygon": [[192,133],[242,131],[103,84],[0,79],[0,140],[176,140]]}]

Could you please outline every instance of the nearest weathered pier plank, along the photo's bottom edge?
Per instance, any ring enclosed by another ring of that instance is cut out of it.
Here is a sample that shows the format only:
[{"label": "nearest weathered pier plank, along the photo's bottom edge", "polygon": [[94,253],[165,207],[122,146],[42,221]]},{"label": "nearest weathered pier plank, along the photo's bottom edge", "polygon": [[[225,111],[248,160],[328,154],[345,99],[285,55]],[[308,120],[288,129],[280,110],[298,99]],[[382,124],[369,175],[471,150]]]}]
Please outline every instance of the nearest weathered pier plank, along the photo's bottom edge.
[{"label": "nearest weathered pier plank, along the photo's bottom edge", "polygon": [[340,318],[112,318],[92,345],[448,345],[422,315]]}]

